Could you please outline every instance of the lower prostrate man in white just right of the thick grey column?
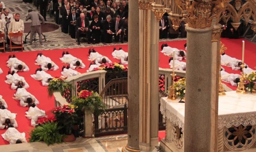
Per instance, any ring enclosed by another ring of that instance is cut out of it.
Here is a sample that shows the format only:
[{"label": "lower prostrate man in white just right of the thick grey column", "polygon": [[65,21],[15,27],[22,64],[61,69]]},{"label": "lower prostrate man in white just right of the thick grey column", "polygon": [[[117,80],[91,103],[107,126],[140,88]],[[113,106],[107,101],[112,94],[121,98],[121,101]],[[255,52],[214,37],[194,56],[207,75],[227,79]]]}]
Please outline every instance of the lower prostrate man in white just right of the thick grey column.
[{"label": "lower prostrate man in white just right of the thick grey column", "polygon": [[239,74],[229,74],[221,70],[221,80],[230,83],[232,86],[237,86],[237,83],[240,82],[240,77],[241,75]]}]

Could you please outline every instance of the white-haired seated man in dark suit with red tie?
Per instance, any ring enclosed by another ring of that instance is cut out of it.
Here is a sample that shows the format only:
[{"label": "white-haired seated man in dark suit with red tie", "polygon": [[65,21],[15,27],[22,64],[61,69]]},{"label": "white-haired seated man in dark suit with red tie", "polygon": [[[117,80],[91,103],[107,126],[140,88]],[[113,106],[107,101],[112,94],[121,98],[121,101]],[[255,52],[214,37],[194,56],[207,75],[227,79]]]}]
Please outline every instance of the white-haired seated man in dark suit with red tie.
[{"label": "white-haired seated man in dark suit with red tie", "polygon": [[86,34],[88,44],[90,44],[90,29],[89,29],[89,19],[85,17],[84,13],[80,14],[80,17],[76,19],[76,38],[77,44],[80,45],[80,37],[82,34]]}]

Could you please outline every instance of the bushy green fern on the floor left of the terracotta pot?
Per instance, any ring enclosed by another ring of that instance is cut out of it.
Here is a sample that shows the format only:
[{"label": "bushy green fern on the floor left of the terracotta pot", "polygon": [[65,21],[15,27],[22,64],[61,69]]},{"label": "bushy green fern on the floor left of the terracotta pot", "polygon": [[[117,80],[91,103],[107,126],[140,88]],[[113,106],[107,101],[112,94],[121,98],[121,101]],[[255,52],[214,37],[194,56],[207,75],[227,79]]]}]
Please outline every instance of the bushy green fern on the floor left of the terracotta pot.
[{"label": "bushy green fern on the floor left of the terracotta pot", "polygon": [[29,142],[43,141],[48,146],[54,143],[61,143],[62,136],[59,133],[60,127],[57,122],[47,122],[35,127],[29,133]]}]

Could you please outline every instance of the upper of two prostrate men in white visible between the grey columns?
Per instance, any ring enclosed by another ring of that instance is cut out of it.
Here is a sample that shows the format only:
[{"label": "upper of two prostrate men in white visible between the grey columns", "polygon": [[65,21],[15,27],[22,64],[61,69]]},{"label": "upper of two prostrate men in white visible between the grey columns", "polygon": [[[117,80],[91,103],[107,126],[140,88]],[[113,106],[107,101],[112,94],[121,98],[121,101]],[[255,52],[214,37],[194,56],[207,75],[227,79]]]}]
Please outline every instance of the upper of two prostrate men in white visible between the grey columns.
[{"label": "upper of two prostrate men in white visible between the grey columns", "polygon": [[184,50],[179,50],[177,48],[172,48],[170,46],[167,46],[167,44],[163,47],[162,53],[164,53],[165,56],[172,56],[173,52],[175,51],[175,60],[183,60],[186,59],[186,52]]}]

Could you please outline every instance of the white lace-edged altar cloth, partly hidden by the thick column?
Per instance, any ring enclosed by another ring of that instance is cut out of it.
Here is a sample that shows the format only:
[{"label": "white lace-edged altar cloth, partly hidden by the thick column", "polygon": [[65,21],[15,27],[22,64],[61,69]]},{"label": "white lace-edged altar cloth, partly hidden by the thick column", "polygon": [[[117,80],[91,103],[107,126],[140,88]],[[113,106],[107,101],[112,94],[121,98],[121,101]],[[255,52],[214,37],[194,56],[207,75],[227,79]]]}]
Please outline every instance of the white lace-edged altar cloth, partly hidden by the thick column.
[{"label": "white lace-edged altar cloth, partly hidden by the thick column", "polygon": [[[185,104],[179,103],[180,99],[172,100],[167,97],[161,98],[160,111],[175,125],[184,129]],[[226,92],[225,96],[219,96],[218,128],[227,128],[232,125],[255,125],[256,124],[256,94]],[[209,118],[210,119],[210,118]]]}]

